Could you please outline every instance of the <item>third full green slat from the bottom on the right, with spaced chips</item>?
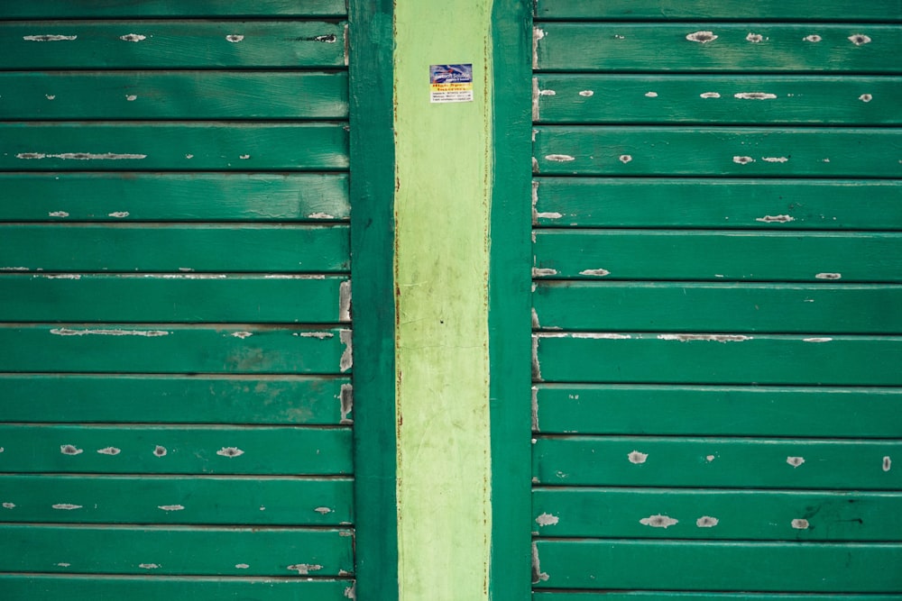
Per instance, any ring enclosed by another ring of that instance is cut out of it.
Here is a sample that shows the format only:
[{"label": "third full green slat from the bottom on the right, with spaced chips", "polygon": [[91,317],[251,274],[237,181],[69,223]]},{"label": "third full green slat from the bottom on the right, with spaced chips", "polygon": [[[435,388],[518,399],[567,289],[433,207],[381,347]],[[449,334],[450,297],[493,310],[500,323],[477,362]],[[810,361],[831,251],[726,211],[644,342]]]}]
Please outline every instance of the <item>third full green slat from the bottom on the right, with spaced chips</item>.
[{"label": "third full green slat from the bottom on the right, with spaced chips", "polygon": [[897,490],[902,484],[902,471],[892,469],[902,452],[898,440],[540,436],[532,449],[533,482],[543,485]]}]

